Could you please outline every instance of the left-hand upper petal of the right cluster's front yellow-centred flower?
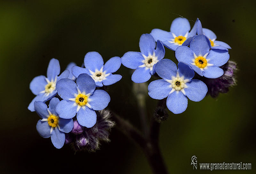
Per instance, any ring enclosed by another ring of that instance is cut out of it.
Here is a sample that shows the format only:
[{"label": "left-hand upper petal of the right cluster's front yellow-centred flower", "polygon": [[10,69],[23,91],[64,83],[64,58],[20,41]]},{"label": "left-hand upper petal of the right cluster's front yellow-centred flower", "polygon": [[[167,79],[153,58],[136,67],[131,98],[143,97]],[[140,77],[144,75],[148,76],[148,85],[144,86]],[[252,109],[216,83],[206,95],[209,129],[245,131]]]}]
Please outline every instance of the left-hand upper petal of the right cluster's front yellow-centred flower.
[{"label": "left-hand upper petal of the right cluster's front yellow-centred flower", "polygon": [[193,51],[186,46],[180,46],[175,51],[175,57],[179,62],[193,63],[195,59]]}]

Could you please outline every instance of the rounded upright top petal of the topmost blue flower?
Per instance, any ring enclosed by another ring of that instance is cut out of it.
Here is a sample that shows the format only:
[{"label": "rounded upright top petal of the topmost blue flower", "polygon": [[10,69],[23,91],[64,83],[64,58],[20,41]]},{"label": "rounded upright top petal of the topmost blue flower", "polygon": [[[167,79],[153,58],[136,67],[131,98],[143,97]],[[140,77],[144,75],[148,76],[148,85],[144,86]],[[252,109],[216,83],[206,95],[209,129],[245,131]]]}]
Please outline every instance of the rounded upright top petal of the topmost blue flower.
[{"label": "rounded upright top petal of the topmost blue flower", "polygon": [[171,32],[177,37],[184,36],[190,30],[190,24],[186,18],[176,18],[172,21]]}]

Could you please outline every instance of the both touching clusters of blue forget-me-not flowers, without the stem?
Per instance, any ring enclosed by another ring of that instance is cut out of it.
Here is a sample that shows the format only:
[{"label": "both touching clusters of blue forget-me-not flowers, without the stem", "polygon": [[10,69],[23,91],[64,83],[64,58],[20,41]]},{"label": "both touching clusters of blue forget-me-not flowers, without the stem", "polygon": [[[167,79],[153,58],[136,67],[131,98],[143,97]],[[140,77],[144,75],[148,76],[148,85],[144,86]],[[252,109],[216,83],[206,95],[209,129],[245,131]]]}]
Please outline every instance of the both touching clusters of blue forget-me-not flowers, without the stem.
[{"label": "both touching clusters of blue forget-me-not flowers, without the stem", "polygon": [[[229,61],[231,47],[216,38],[211,30],[202,28],[199,19],[190,30],[186,18],[176,18],[170,32],[153,29],[150,34],[142,34],[140,52],[129,51],[121,58],[112,57],[105,64],[99,53],[89,52],[84,57],[85,68],[70,63],[60,74],[59,61],[52,59],[47,77],[37,76],[30,83],[30,90],[36,97],[28,109],[42,118],[36,125],[38,133],[44,138],[51,137],[56,148],[70,142],[71,133],[79,139],[78,147],[88,145],[88,140],[93,138],[85,137],[99,120],[98,111],[104,110],[110,102],[110,96],[101,87],[121,80],[121,75],[112,74],[121,64],[135,69],[132,74],[135,83],[157,76],[159,79],[148,85],[148,95],[158,100],[167,98],[166,106],[174,114],[186,110],[188,98],[198,102],[207,92],[216,97],[235,83],[233,71],[236,69],[236,64]],[[170,59],[163,59],[164,47],[175,51],[178,66]],[[49,100],[47,108],[45,102]],[[108,131],[114,124],[109,122],[109,125],[105,127]],[[80,136],[84,127],[87,133]]]}]

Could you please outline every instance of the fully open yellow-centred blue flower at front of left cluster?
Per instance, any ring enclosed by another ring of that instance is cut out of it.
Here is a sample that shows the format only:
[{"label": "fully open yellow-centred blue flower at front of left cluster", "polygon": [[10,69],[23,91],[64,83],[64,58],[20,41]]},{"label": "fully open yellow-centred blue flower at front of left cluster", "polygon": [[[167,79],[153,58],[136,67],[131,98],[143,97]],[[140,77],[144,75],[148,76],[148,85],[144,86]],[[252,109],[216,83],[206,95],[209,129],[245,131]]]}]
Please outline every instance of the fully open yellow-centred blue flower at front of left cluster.
[{"label": "fully open yellow-centred blue flower at front of left cluster", "polygon": [[95,82],[88,74],[80,74],[76,83],[68,78],[60,79],[56,84],[58,94],[63,98],[56,107],[60,118],[71,119],[76,116],[80,125],[93,127],[97,120],[94,110],[105,109],[110,102],[106,91],[95,88]]}]

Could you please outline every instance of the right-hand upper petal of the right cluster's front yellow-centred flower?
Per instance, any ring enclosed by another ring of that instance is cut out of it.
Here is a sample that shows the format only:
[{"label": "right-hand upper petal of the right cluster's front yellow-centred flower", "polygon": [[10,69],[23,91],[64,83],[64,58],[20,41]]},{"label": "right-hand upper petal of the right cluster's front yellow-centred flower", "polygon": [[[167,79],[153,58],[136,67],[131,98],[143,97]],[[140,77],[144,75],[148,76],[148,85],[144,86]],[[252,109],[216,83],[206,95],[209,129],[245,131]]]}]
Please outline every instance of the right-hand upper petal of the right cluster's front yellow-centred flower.
[{"label": "right-hand upper petal of the right cluster's front yellow-centred flower", "polygon": [[226,50],[211,49],[206,56],[207,63],[212,63],[214,66],[220,67],[228,62],[229,54]]}]

